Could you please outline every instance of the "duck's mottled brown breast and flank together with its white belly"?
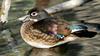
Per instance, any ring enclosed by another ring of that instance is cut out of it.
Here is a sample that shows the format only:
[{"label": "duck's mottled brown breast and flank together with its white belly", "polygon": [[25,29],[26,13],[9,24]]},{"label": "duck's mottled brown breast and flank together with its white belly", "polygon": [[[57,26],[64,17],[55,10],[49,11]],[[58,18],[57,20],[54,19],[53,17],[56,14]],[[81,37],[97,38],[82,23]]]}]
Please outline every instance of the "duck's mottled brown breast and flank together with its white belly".
[{"label": "duck's mottled brown breast and flank together with its white belly", "polygon": [[70,35],[70,37],[67,36],[63,40],[59,40],[55,38],[55,36],[47,35],[35,29],[33,26],[34,23],[34,21],[27,21],[21,26],[21,36],[23,40],[31,46],[50,48],[76,39]]}]

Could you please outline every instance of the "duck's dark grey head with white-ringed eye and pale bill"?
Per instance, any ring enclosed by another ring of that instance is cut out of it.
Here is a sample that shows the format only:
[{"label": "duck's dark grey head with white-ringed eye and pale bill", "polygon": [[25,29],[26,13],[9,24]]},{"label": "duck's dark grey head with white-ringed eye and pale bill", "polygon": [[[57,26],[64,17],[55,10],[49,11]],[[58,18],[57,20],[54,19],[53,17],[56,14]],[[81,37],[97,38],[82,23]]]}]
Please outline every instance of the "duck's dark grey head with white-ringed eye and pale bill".
[{"label": "duck's dark grey head with white-ringed eye and pale bill", "polygon": [[33,21],[39,21],[45,18],[50,17],[49,14],[45,10],[39,10],[38,8],[32,8],[28,11],[27,15],[19,18],[18,20],[20,21],[28,21],[28,20],[33,20]]}]

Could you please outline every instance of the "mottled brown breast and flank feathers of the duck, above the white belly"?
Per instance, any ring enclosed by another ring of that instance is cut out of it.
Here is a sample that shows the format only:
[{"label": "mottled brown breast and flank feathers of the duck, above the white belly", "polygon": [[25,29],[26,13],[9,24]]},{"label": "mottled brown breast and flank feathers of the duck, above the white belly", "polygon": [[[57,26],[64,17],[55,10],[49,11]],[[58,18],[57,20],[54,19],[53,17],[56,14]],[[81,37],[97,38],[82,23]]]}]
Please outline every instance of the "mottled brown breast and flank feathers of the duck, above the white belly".
[{"label": "mottled brown breast and flank feathers of the duck, above the white belly", "polygon": [[[42,33],[38,29],[35,29],[33,25],[33,21],[25,22],[21,27],[21,35],[24,38],[27,38],[29,41],[33,42],[43,42],[45,44],[54,44],[58,40],[55,39],[54,36],[47,35]],[[50,41],[52,40],[52,43]]]}]

